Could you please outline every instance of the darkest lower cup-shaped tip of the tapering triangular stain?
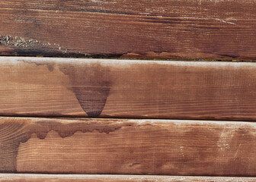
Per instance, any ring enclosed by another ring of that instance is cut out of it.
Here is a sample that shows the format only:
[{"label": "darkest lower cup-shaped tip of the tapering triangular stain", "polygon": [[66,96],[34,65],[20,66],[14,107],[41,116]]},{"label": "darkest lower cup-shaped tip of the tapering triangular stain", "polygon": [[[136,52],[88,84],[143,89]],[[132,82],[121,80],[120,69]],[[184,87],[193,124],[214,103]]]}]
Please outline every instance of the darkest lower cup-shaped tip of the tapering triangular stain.
[{"label": "darkest lower cup-shaped tip of the tapering triangular stain", "polygon": [[110,88],[73,87],[76,98],[89,117],[98,117],[104,109]]}]

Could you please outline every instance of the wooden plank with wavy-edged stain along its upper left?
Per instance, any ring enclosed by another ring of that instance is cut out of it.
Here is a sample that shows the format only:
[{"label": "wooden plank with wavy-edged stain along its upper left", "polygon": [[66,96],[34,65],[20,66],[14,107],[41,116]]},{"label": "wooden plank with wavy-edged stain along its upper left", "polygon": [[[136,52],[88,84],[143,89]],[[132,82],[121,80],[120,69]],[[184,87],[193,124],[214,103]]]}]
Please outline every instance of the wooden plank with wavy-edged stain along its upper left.
[{"label": "wooden plank with wavy-edged stain along its upper left", "polygon": [[0,171],[256,175],[256,123],[0,118]]}]

